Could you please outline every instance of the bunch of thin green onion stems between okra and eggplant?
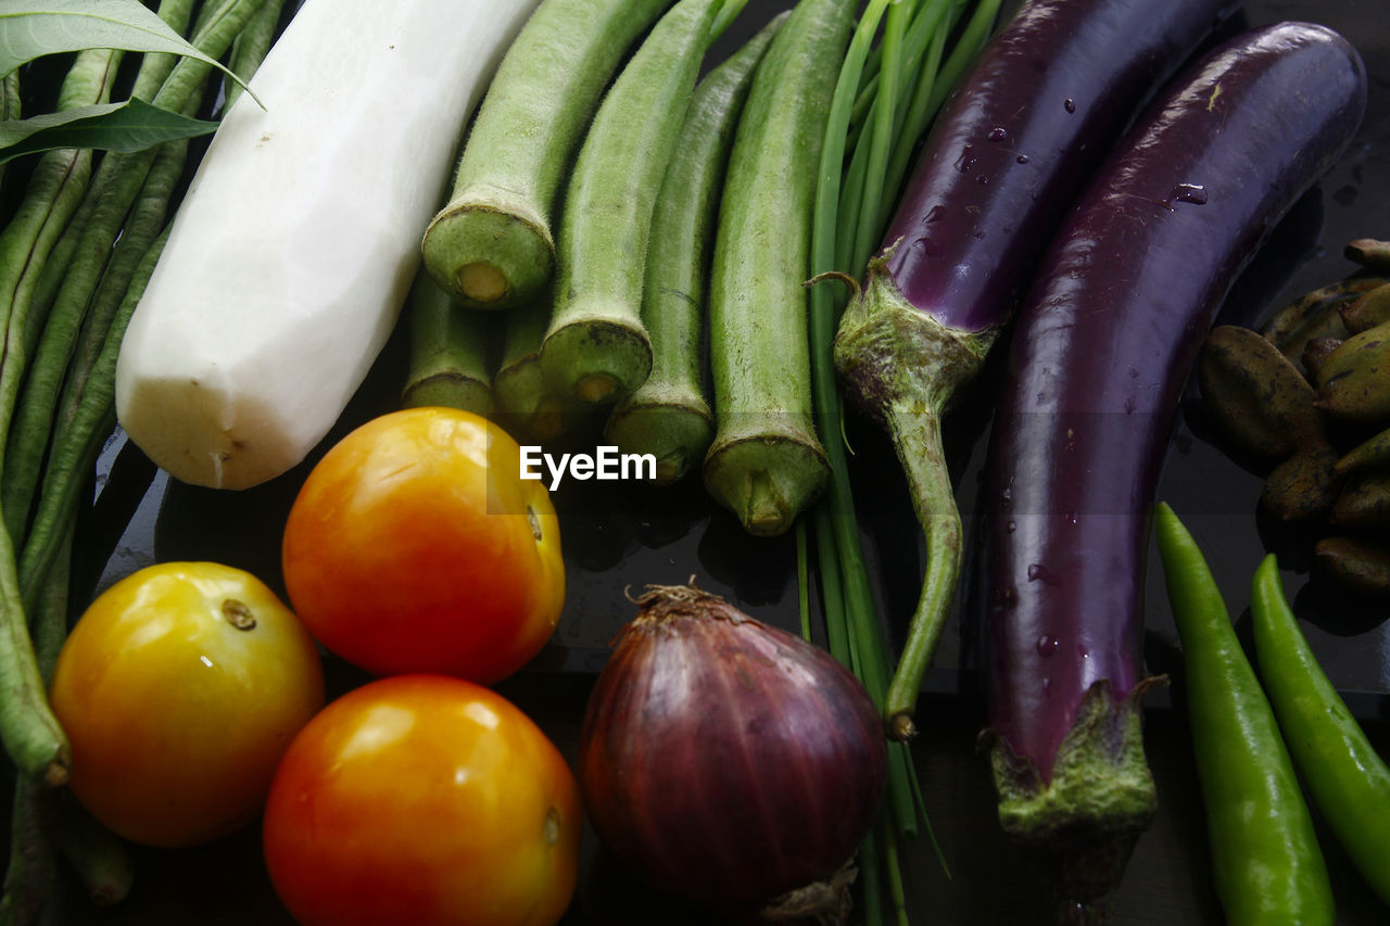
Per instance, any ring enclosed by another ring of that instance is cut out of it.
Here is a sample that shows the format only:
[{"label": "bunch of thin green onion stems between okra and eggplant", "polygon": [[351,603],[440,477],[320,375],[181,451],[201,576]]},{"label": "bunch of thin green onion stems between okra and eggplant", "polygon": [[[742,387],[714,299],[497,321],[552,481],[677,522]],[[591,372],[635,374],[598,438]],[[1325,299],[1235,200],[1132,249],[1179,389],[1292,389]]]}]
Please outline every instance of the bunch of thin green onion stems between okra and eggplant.
[{"label": "bunch of thin green onion stems between okra and eggplant", "polygon": [[[945,65],[945,36],[955,24],[958,4],[924,0],[920,4],[870,0],[845,53],[826,124],[812,222],[810,277],[858,274],[877,246],[897,197],[908,153],[924,132],[948,89],[979,51],[992,26],[999,0],[981,0],[962,29],[962,39]],[[887,14],[883,40],[872,50]],[[866,67],[873,72],[866,78]],[[940,74],[938,74],[940,67]],[[856,118],[859,117],[859,118]],[[853,153],[847,164],[849,145]],[[816,425],[830,457],[831,481],[815,512],[815,537],[826,603],[831,652],[851,652],[852,667],[876,704],[888,687],[888,647],[863,560],[859,524],[848,476],[841,399],[833,363],[840,291],[813,285],[810,292],[812,395]],[[895,919],[906,920],[897,838],[910,838],[917,819],[926,818],[920,781],[906,744],[888,747],[888,795],[884,851],[866,840],[860,850],[865,916],[881,922],[880,873],[894,902]],[[930,823],[927,825],[931,833]],[[931,838],[940,856],[940,845]],[[880,872],[880,865],[884,870]],[[944,861],[942,861],[944,865]]]}]

